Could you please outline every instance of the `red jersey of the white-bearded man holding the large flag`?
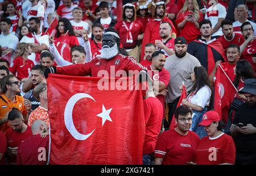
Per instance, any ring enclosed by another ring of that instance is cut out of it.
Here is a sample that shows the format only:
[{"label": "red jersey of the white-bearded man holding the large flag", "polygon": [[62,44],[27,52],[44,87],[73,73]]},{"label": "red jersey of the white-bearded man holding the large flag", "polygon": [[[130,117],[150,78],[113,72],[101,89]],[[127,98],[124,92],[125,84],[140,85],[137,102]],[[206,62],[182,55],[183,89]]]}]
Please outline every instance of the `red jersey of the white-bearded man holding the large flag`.
[{"label": "red jersey of the white-bearded man holding the large flag", "polygon": [[[57,74],[102,77],[106,76],[104,74],[107,72],[111,78],[122,76],[115,75],[118,70],[124,70],[126,74],[128,74],[129,70],[141,71],[147,70],[147,68],[137,63],[133,57],[122,54],[117,54],[112,59],[101,59],[100,57],[96,57],[88,63],[77,63],[75,65],[56,67]],[[100,71],[104,74],[98,75],[98,72]]]}]

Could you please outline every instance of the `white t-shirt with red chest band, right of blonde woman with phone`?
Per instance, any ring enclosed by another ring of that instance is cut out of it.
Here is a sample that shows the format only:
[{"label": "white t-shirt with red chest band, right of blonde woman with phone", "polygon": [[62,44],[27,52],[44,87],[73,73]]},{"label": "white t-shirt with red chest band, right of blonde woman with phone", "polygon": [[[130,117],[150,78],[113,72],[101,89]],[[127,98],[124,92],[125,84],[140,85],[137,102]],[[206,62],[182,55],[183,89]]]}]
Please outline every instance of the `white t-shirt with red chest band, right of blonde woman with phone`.
[{"label": "white t-shirt with red chest band, right of blonde woman with phone", "polygon": [[[205,19],[209,19],[212,22],[212,28],[216,26],[219,18],[226,18],[226,8],[218,3],[216,6],[210,6],[205,12]],[[218,31],[214,32],[212,36],[222,36],[221,27]]]}]

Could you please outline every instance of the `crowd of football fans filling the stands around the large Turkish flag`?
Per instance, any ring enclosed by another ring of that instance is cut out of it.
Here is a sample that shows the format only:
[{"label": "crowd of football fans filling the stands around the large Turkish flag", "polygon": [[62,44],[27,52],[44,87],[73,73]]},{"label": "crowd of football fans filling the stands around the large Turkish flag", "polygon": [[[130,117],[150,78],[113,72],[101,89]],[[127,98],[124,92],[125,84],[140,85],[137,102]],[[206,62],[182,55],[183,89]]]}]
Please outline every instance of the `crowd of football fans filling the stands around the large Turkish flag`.
[{"label": "crowd of football fans filling the stands around the large Turkish flag", "polygon": [[[97,76],[120,62],[152,73],[143,164],[256,164],[256,2],[118,3],[0,0],[0,164],[47,163],[49,72]],[[218,67],[238,90],[221,117]]]}]

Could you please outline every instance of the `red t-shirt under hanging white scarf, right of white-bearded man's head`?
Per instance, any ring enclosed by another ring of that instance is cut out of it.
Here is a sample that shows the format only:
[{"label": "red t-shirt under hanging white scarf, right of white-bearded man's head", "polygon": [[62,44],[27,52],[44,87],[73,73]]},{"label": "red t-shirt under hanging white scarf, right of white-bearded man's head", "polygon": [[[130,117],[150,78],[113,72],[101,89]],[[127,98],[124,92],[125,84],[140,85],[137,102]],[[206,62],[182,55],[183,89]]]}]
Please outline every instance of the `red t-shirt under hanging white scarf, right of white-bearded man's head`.
[{"label": "red t-shirt under hanging white scarf, right of white-bearded man's head", "polygon": [[144,26],[139,20],[135,20],[134,22],[124,22],[128,29],[130,29],[131,23],[133,23],[133,27],[131,27],[131,35],[133,36],[133,43],[127,43],[127,33],[128,31],[125,28],[124,21],[117,22],[114,26],[115,30],[118,31],[120,37],[120,43],[123,45],[125,49],[134,48],[137,45],[137,38],[140,34],[144,33]]}]

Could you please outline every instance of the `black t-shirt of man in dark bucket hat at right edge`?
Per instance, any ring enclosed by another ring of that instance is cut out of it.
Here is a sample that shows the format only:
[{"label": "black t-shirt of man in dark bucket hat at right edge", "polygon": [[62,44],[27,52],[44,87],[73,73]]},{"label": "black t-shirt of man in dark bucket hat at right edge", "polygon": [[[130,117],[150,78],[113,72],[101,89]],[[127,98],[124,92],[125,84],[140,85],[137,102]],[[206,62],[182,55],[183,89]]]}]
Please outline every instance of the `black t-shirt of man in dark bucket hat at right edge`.
[{"label": "black t-shirt of man in dark bucket hat at right edge", "polygon": [[[256,105],[254,105],[254,107],[250,107],[247,102],[240,105],[233,121],[234,125],[237,123],[243,123],[245,126],[250,123],[256,127]],[[235,143],[238,155],[249,154],[256,157],[256,134],[244,135],[238,133]]]}]

